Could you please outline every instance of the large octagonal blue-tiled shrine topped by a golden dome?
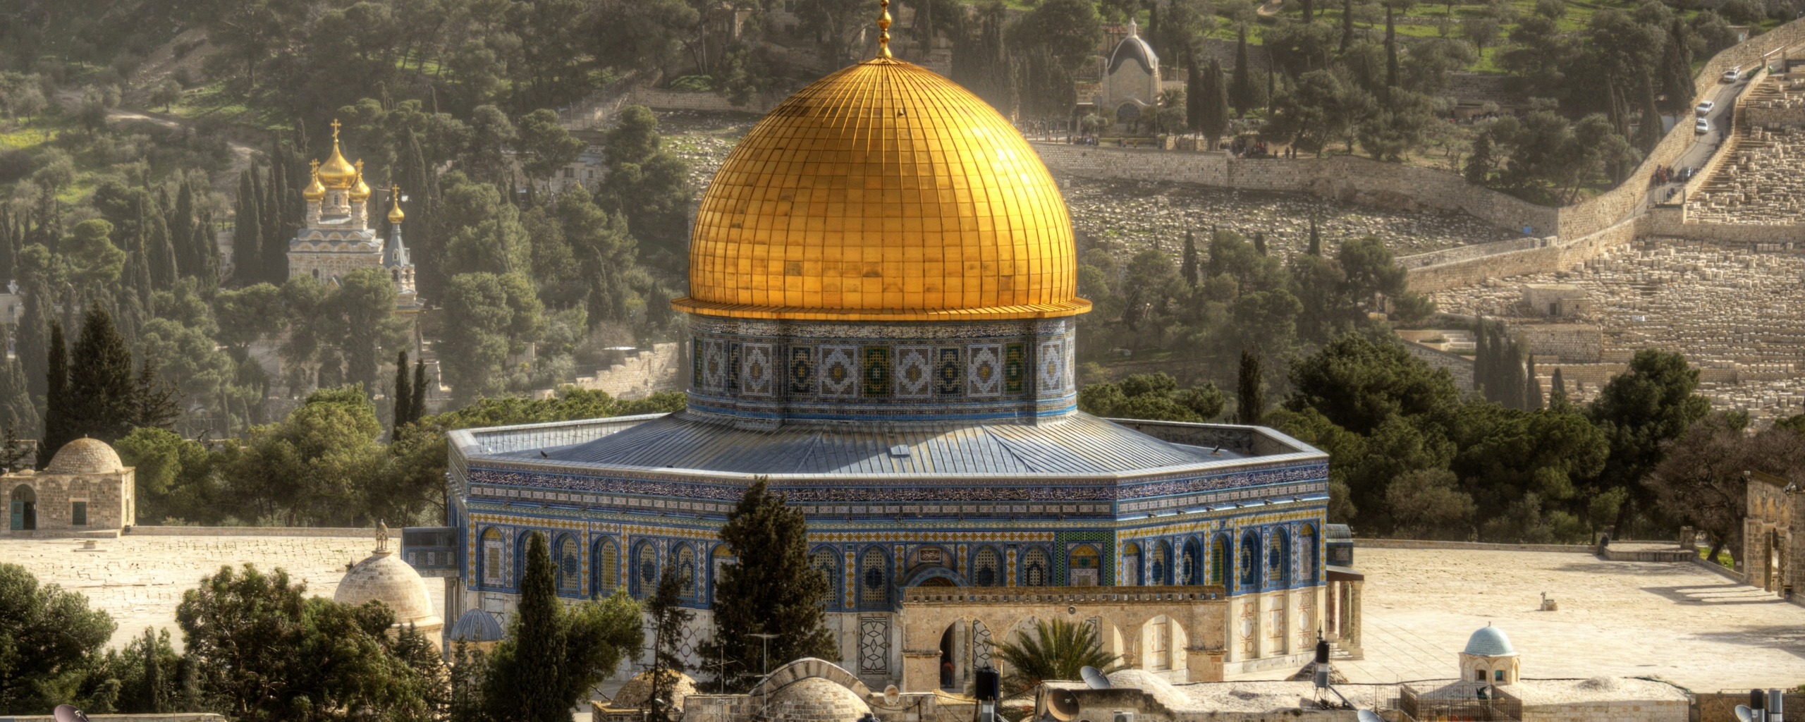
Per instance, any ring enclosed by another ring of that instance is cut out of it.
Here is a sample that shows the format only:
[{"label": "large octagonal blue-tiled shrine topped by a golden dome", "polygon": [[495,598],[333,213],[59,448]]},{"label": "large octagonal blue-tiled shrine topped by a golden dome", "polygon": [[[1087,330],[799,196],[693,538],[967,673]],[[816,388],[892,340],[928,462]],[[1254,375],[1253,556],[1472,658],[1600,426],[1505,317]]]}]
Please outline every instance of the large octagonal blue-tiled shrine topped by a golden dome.
[{"label": "large octagonal blue-tiled shrine topped by a golden dome", "polygon": [[1060,186],[996,110],[879,47],[708,186],[671,301],[684,410],[449,433],[442,617],[505,626],[543,532],[572,601],[675,569],[700,664],[735,563],[718,531],[764,477],[807,514],[839,664],[872,690],[960,690],[1049,619],[1177,682],[1309,662],[1336,603],[1328,457],[1079,412],[1090,301]]}]

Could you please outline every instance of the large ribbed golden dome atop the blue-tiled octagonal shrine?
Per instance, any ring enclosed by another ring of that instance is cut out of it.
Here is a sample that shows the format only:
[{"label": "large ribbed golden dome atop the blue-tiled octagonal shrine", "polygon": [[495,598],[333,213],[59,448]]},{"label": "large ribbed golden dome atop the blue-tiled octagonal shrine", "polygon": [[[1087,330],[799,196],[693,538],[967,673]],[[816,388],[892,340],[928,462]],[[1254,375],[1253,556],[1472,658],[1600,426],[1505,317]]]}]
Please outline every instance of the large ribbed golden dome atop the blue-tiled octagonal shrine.
[{"label": "large ribbed golden dome atop the blue-tiled octagonal shrine", "polygon": [[789,319],[1009,319],[1076,296],[1058,184],[982,99],[877,58],[801,88],[715,173],[677,310]]}]

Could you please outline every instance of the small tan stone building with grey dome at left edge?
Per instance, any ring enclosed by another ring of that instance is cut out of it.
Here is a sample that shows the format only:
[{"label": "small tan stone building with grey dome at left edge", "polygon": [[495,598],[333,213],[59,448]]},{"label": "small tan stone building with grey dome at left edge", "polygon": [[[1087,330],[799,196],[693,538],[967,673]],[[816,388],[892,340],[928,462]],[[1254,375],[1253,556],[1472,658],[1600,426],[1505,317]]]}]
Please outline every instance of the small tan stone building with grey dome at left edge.
[{"label": "small tan stone building with grey dome at left edge", "polygon": [[119,536],[137,520],[134,469],[99,439],[63,444],[43,471],[0,477],[9,536]]}]

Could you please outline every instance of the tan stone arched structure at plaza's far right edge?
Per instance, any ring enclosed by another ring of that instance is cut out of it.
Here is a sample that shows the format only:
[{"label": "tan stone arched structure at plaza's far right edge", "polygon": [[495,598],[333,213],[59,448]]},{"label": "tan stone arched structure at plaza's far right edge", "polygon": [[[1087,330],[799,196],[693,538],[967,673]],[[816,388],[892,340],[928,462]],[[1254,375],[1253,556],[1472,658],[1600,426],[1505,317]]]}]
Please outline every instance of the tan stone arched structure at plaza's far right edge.
[{"label": "tan stone arched structure at plaza's far right edge", "polygon": [[1747,516],[1742,520],[1742,572],[1751,587],[1791,596],[1800,579],[1805,543],[1805,495],[1800,486],[1771,473],[1749,471]]}]

